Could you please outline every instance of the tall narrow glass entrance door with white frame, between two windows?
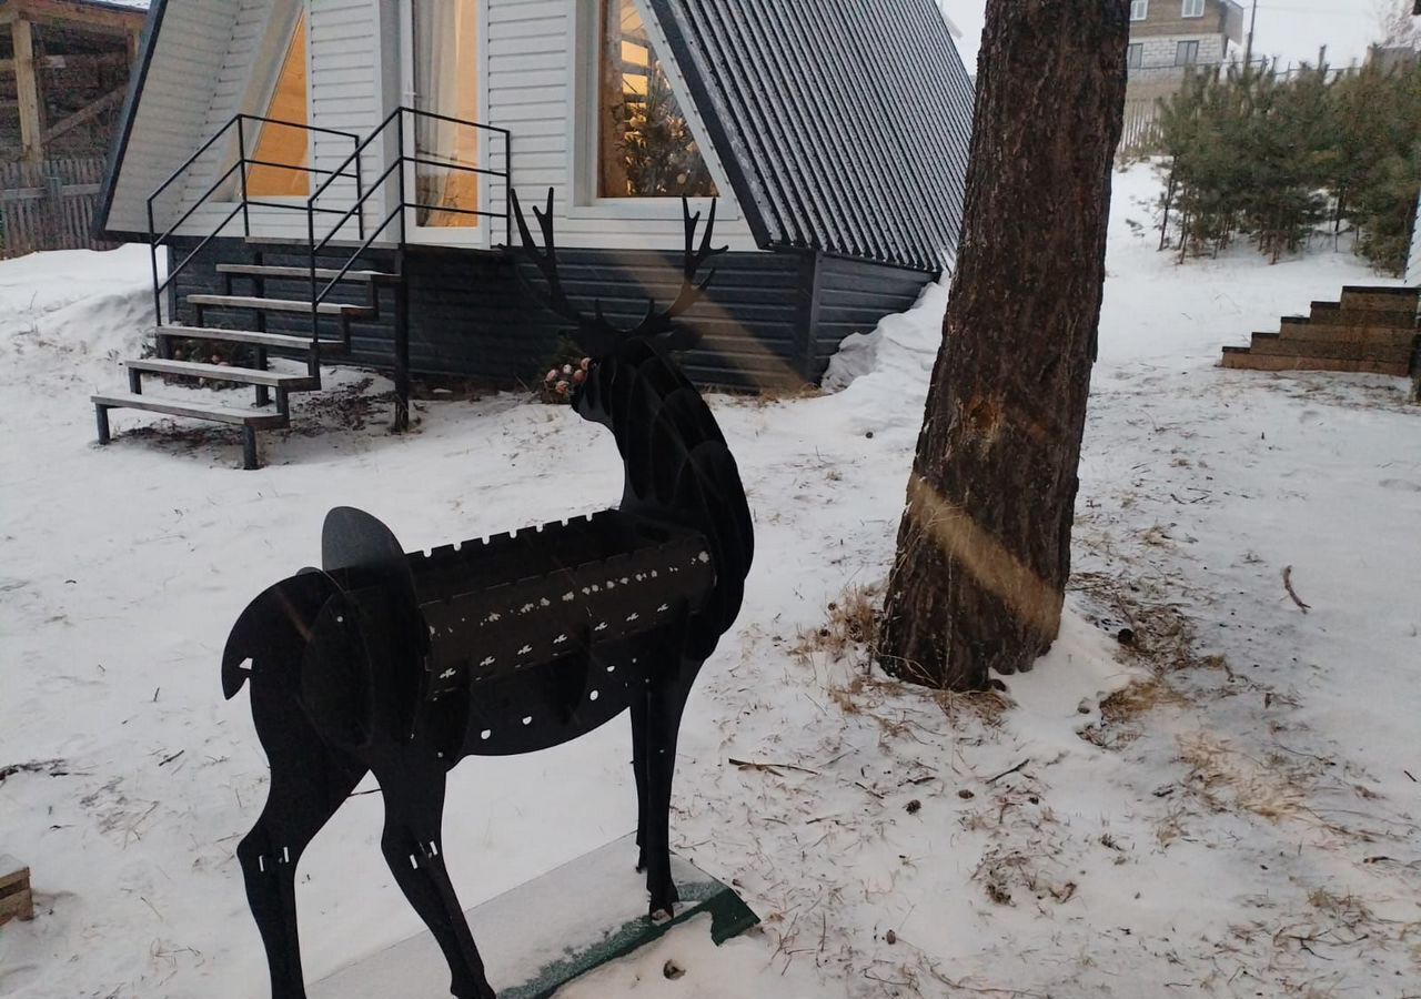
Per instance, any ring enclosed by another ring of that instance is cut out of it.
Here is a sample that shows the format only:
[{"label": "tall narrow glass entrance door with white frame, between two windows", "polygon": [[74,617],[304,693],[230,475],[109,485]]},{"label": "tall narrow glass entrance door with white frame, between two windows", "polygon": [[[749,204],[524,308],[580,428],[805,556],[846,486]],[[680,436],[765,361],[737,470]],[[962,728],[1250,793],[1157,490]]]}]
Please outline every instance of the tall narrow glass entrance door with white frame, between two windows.
[{"label": "tall narrow glass entrance door with white frame, between two windows", "polygon": [[405,196],[409,239],[487,246],[487,142],[483,129],[482,40],[485,0],[406,0],[405,104],[422,112],[405,122]]}]

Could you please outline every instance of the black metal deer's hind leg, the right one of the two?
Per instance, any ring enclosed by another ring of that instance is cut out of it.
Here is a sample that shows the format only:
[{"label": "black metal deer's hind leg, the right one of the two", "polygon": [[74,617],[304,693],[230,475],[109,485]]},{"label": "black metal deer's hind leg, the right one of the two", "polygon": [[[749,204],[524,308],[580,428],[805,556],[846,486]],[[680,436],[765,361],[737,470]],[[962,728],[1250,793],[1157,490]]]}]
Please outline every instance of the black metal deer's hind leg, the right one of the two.
[{"label": "black metal deer's hind leg, the right one of the two", "polygon": [[377,770],[375,776],[385,792],[379,847],[399,890],[449,962],[450,992],[456,999],[496,999],[443,863],[443,769],[401,769],[392,774]]}]

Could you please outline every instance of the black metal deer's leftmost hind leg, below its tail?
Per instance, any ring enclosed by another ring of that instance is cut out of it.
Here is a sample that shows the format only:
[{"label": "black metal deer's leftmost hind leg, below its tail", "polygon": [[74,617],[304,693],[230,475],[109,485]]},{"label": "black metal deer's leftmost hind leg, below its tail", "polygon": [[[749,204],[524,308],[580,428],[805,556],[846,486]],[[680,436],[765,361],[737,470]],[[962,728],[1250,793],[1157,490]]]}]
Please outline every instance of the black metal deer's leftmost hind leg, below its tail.
[{"label": "black metal deer's leftmost hind leg, below its tail", "polygon": [[365,776],[360,762],[321,740],[286,691],[254,679],[252,709],[271,763],[257,824],[237,846],[247,904],[261,932],[273,999],[306,999],[296,922],[296,865]]}]

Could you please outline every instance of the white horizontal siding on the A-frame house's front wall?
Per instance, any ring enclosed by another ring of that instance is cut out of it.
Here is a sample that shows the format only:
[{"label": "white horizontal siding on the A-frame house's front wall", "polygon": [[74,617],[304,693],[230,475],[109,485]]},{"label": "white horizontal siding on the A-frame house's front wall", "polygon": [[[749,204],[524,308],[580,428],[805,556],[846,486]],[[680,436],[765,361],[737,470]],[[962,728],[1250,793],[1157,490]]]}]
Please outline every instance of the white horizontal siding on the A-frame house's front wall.
[{"label": "white horizontal siding on the A-frame house's front wall", "polygon": [[[139,117],[125,156],[114,206],[114,227],[139,230],[144,199],[212,132],[252,101],[253,67],[263,51],[264,30],[277,4],[291,0],[169,0],[162,44],[149,71]],[[311,124],[368,135],[394,108],[399,82],[399,18],[402,0],[308,0]],[[608,249],[679,249],[682,220],[679,199],[635,199],[587,203],[577,171],[587,169],[576,152],[576,115],[587,128],[595,95],[585,92],[595,81],[590,71],[597,55],[597,0],[482,0],[486,3],[483,82],[486,124],[513,132],[513,183],[524,202],[541,203],[549,188],[557,196],[557,236],[564,246]],[[658,51],[665,41],[651,13],[644,10]],[[584,51],[578,58],[577,45]],[[213,77],[210,67],[220,70]],[[674,72],[674,71],[672,71]],[[587,81],[584,85],[581,81]],[[705,129],[696,119],[679,78],[672,78],[692,128],[702,136],[720,189],[718,244],[755,249],[749,226],[736,205],[725,171],[713,156]],[[260,112],[261,108],[246,107]],[[338,136],[317,136],[314,165],[334,169],[350,155],[351,144]],[[216,172],[227,166],[233,146],[213,153],[195,169],[186,185],[190,198],[200,195]],[[388,146],[372,144],[364,158],[367,185],[388,165]],[[504,169],[503,144],[486,145],[492,169]],[[344,190],[337,190],[337,185]],[[323,198],[328,207],[348,207],[352,182],[340,180]],[[182,186],[182,185],[179,185]],[[502,212],[504,185],[487,185],[489,210]],[[581,195],[581,202],[580,200]],[[188,205],[192,202],[188,200]],[[169,220],[176,220],[176,203]],[[230,209],[227,209],[230,210]],[[136,213],[136,215],[135,215]],[[207,234],[223,210],[200,209],[182,232]],[[384,216],[379,198],[371,200],[367,222]],[[334,217],[327,220],[327,226]],[[229,227],[236,233],[237,223]],[[297,212],[253,209],[254,236],[304,237],[306,217]],[[502,222],[490,226],[495,242],[506,234]],[[354,236],[347,227],[342,236]],[[387,236],[394,234],[387,230]]]}]

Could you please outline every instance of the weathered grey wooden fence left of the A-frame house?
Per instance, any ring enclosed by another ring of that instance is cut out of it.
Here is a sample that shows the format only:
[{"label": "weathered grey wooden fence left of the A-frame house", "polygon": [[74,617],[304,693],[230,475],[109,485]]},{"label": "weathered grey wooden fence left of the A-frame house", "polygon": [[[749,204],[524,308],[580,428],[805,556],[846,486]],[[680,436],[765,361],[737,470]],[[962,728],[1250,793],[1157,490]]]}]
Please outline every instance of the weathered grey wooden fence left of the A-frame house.
[{"label": "weathered grey wooden fence left of the A-frame house", "polygon": [[107,250],[94,239],[102,158],[0,163],[0,260],[34,250]]}]

